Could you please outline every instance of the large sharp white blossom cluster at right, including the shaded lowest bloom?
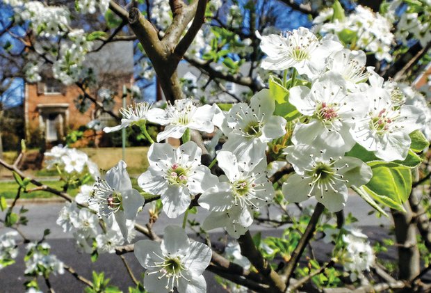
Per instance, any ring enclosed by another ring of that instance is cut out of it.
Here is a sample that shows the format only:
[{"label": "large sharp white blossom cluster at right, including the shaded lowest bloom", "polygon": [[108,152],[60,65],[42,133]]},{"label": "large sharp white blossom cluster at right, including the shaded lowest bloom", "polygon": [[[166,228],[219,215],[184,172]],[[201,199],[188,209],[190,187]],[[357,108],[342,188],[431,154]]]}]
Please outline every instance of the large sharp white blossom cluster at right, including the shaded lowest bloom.
[{"label": "large sharp white blossom cluster at right, including the shaded lowest bloom", "polygon": [[295,202],[316,196],[332,212],[339,211],[347,187],[372,177],[370,167],[344,157],[345,152],[358,144],[384,161],[403,160],[409,134],[424,127],[425,114],[405,103],[394,81],[384,83],[373,68],[366,68],[364,52],[342,49],[332,35],[318,40],[300,28],[260,38],[268,54],[263,68],[295,68],[311,82],[289,90],[289,102],[307,119],[295,123],[293,145],[284,150],[296,172],[284,183],[284,195]]}]

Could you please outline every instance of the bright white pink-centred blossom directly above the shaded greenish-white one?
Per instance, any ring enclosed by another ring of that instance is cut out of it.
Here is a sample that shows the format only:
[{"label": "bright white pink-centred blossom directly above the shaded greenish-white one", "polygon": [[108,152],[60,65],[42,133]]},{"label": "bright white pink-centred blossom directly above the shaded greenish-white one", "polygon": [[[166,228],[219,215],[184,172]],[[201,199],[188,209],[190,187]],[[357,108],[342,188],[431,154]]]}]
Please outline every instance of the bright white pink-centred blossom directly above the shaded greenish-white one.
[{"label": "bright white pink-centred blossom directly above the shaded greenish-white one", "polygon": [[359,93],[348,93],[345,80],[336,72],[323,74],[311,89],[291,88],[289,102],[303,115],[311,116],[307,124],[295,125],[293,143],[324,145],[343,155],[355,145],[350,129],[368,110],[367,103],[357,102],[361,99]]}]

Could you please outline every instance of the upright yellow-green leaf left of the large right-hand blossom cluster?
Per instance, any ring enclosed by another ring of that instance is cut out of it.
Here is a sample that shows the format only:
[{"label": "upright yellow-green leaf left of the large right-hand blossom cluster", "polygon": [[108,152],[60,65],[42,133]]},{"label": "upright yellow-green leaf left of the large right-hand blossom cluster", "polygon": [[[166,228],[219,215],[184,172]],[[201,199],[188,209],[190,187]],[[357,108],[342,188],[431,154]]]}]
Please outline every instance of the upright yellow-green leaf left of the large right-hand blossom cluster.
[{"label": "upright yellow-green leaf left of the large right-hand blossom cluster", "polygon": [[291,121],[301,115],[295,106],[288,102],[289,92],[284,88],[284,86],[282,86],[281,81],[277,81],[275,77],[270,77],[269,89],[270,95],[275,101],[274,115],[282,116],[286,118],[287,121]]}]

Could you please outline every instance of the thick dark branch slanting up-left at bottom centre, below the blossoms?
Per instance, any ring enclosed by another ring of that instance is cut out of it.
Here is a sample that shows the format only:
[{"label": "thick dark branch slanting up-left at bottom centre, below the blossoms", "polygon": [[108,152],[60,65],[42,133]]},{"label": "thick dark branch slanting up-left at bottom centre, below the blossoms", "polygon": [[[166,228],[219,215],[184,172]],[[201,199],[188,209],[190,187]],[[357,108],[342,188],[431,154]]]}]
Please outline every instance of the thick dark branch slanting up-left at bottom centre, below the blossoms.
[{"label": "thick dark branch slanting up-left at bottom centre, below the blossoms", "polygon": [[241,235],[238,239],[239,246],[241,247],[241,254],[244,255],[254,267],[259,271],[259,274],[270,285],[269,292],[284,292],[286,285],[282,278],[273,270],[269,262],[263,258],[261,253],[257,250],[254,245],[252,235],[250,231],[245,232],[245,235]]}]

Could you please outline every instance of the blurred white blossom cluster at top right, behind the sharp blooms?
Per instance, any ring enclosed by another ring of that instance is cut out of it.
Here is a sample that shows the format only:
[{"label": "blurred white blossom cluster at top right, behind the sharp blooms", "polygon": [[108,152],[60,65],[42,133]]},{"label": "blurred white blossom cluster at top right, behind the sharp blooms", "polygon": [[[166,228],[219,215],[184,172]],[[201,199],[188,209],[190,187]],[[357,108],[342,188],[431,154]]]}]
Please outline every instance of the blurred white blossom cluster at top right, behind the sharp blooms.
[{"label": "blurred white blossom cluster at top right, behind the sharp blooms", "polygon": [[373,52],[377,60],[392,60],[389,51],[394,36],[391,33],[392,24],[386,17],[361,5],[356,6],[355,11],[344,19],[331,21],[333,16],[333,8],[323,9],[313,20],[314,31],[350,35],[350,38],[355,35],[354,47]]}]

